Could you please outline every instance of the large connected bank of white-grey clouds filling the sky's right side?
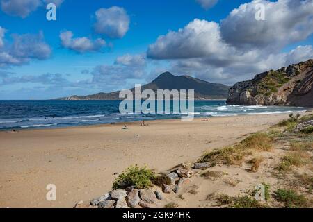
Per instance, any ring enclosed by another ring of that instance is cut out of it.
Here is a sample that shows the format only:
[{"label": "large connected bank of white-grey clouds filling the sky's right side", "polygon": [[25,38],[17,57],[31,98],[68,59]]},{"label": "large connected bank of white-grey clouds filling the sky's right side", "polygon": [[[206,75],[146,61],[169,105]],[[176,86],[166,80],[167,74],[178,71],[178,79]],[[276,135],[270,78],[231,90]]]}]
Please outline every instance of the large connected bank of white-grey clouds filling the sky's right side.
[{"label": "large connected bank of white-grey clouds filling the sky's right side", "polygon": [[[264,3],[266,20],[255,19]],[[312,46],[286,46],[313,33],[313,0],[255,0],[232,10],[220,23],[194,19],[178,31],[161,35],[147,58],[168,60],[171,71],[232,84],[268,69],[313,58]]]}]

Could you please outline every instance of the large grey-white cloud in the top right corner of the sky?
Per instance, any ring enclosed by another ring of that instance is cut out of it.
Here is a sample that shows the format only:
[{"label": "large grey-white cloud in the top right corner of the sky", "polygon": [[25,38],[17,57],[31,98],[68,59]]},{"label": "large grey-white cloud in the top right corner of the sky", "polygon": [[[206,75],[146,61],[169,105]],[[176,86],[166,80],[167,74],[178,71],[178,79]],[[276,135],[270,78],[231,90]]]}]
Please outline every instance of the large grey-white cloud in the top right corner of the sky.
[{"label": "large grey-white cloud in the top right corner of the sky", "polygon": [[[255,19],[258,3],[265,6],[264,21]],[[232,10],[220,30],[223,39],[234,46],[281,49],[313,33],[313,0],[254,0]]]}]

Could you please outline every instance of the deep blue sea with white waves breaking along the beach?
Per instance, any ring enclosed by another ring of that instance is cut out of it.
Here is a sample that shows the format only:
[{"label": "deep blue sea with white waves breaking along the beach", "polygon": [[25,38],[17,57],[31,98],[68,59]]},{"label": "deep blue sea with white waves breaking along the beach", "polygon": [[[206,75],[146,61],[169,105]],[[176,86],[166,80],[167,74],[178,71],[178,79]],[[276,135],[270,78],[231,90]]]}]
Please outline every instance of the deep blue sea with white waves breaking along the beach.
[{"label": "deep blue sea with white waves breaking along the beach", "polygon": [[[120,114],[120,101],[0,101],[0,130],[90,126],[104,123],[179,119],[180,114]],[[195,101],[195,118],[303,112],[307,108],[226,105]]]}]

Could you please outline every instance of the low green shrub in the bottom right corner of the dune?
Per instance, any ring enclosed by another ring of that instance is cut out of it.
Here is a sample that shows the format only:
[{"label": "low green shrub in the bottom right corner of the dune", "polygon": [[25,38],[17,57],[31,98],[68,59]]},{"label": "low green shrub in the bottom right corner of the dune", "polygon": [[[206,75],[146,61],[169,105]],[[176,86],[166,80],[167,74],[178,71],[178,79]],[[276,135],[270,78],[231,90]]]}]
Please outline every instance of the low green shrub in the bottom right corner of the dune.
[{"label": "low green shrub in the bottom right corner of the dune", "polygon": [[305,196],[291,189],[278,189],[275,191],[275,199],[284,203],[284,207],[287,208],[300,208],[307,205]]}]

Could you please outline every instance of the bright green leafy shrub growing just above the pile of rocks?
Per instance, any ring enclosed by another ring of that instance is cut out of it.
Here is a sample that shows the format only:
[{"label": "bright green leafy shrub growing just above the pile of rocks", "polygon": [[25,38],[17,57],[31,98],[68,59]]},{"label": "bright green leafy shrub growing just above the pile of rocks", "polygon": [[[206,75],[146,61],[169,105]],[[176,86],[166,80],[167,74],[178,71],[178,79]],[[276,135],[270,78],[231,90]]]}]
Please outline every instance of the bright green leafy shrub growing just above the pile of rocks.
[{"label": "bright green leafy shrub growing just above the pile of rocks", "polygon": [[113,182],[113,189],[134,186],[136,189],[146,189],[152,187],[154,172],[147,169],[147,166],[131,166],[121,173]]}]

